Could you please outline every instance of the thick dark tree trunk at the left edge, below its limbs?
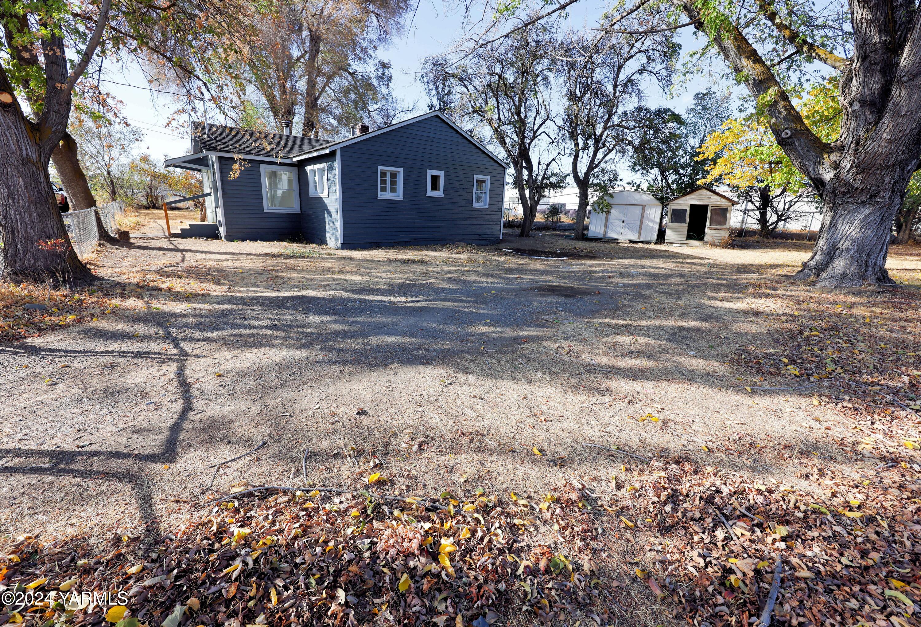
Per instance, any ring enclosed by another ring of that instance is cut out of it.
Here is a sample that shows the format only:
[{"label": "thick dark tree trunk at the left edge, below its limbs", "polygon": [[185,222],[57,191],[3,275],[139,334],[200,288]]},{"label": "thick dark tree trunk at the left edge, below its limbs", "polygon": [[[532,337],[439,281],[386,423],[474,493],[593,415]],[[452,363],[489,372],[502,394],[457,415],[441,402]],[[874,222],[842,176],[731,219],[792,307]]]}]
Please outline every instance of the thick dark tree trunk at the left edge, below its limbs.
[{"label": "thick dark tree trunk at the left edge, below its limbs", "polygon": [[[2,82],[0,90],[5,90]],[[15,100],[0,101],[0,145],[4,147],[0,150],[0,237],[4,244],[0,279],[51,279],[71,285],[91,279],[64,229],[38,133]]]}]

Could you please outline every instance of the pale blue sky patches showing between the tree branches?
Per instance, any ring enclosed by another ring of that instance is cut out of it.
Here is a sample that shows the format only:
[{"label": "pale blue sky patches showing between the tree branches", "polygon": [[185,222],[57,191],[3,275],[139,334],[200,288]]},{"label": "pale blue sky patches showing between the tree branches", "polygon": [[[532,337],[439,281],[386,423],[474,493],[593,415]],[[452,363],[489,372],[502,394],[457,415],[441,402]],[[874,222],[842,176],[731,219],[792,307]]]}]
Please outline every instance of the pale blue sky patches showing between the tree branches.
[{"label": "pale blue sky patches showing between the tree branches", "polygon": [[[570,7],[572,10],[565,19],[565,25],[573,29],[593,28],[597,26],[605,6],[607,3],[598,0],[583,0]],[[379,51],[380,56],[392,64],[394,95],[401,98],[407,106],[416,103],[418,111],[425,112],[426,94],[418,80],[422,61],[426,56],[449,50],[470,28],[470,18],[465,17],[461,9],[451,9],[437,0],[421,3],[415,12],[414,20],[407,25],[402,35],[396,37],[388,48]],[[700,45],[692,29],[682,30],[679,41],[684,51]],[[713,82],[705,76],[700,76],[695,77],[690,84],[685,85],[673,96],[653,88],[647,94],[647,104],[670,106],[677,111],[683,111],[692,100],[694,92],[708,86],[713,86]],[[146,89],[146,80],[140,72],[112,72],[105,87],[111,89],[111,92],[125,103],[123,114],[128,122],[146,134],[145,140],[139,146],[141,150],[149,152],[155,158],[164,155],[176,157],[188,152],[188,135],[182,130],[167,126],[174,102],[169,96],[152,93]]]}]

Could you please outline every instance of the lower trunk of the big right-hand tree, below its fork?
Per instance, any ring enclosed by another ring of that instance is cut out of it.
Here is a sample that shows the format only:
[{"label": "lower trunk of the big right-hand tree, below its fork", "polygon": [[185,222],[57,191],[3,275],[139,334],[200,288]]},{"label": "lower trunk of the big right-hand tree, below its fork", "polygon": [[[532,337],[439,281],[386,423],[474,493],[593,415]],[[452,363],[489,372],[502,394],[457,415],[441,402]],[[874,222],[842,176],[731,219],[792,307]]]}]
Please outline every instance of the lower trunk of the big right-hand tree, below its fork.
[{"label": "lower trunk of the big right-hand tree, below its fork", "polygon": [[889,190],[881,189],[892,183],[892,178],[878,178],[881,184],[849,186],[846,194],[844,190],[835,194],[832,185],[826,187],[823,199],[828,216],[822,220],[812,255],[794,278],[814,278],[819,287],[894,283],[886,272],[886,254],[892,240],[892,220],[902,205],[904,192],[892,191],[898,189],[899,183],[892,184]]}]

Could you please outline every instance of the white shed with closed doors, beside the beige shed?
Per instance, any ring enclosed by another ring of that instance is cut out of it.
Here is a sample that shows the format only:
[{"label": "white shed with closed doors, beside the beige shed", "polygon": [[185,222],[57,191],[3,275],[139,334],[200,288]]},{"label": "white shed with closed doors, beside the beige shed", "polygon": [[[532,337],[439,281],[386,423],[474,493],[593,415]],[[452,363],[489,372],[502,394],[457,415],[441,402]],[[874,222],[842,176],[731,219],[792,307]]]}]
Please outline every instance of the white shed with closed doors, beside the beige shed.
[{"label": "white shed with closed doors, beside the beige shed", "polygon": [[611,211],[594,208],[589,216],[589,237],[632,242],[655,242],[662,221],[662,204],[646,192],[622,190],[606,196]]}]

